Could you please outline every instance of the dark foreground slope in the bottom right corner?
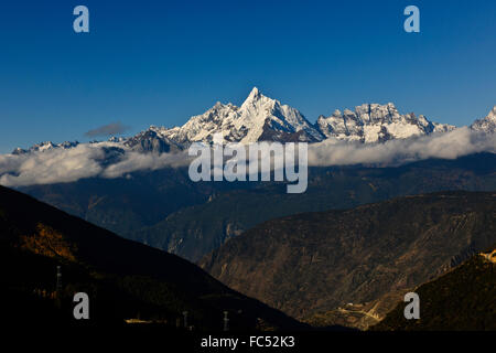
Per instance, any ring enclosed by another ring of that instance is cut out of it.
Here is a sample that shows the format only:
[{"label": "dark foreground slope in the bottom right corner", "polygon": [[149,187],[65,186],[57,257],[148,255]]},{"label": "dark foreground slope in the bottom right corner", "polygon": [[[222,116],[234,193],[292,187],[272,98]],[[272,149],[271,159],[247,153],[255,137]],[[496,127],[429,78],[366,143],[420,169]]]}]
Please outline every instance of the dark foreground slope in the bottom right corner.
[{"label": "dark foreground slope in the bottom right corner", "polygon": [[475,255],[414,291],[420,298],[419,320],[406,320],[406,303],[400,302],[371,330],[496,331],[496,254],[493,260]]}]

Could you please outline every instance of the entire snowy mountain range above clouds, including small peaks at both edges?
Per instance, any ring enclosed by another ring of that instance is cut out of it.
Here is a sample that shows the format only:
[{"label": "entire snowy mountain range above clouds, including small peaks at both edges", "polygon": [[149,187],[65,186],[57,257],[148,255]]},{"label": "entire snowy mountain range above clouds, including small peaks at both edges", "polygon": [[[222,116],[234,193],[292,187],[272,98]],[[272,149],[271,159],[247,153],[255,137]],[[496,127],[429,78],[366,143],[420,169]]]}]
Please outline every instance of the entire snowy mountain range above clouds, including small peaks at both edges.
[{"label": "entire snowy mountain range above clouds, including small peaks at both edges", "polygon": [[[355,110],[335,110],[328,117],[320,116],[311,124],[298,109],[282,105],[279,100],[262,95],[252,88],[240,107],[216,103],[202,115],[194,116],[182,127],[151,126],[130,138],[109,139],[111,146],[121,146],[139,152],[174,152],[192,142],[211,142],[214,133],[223,133],[230,142],[301,141],[320,142],[326,139],[358,141],[363,143],[385,142],[446,132],[455,126],[430,121],[423,115],[401,115],[392,103],[386,105],[363,104]],[[496,130],[496,106],[489,115],[475,120],[471,129],[494,133]],[[103,143],[103,142],[100,142]],[[78,142],[43,142],[28,150],[18,148],[12,153],[22,154],[47,149],[68,149]]]}]

